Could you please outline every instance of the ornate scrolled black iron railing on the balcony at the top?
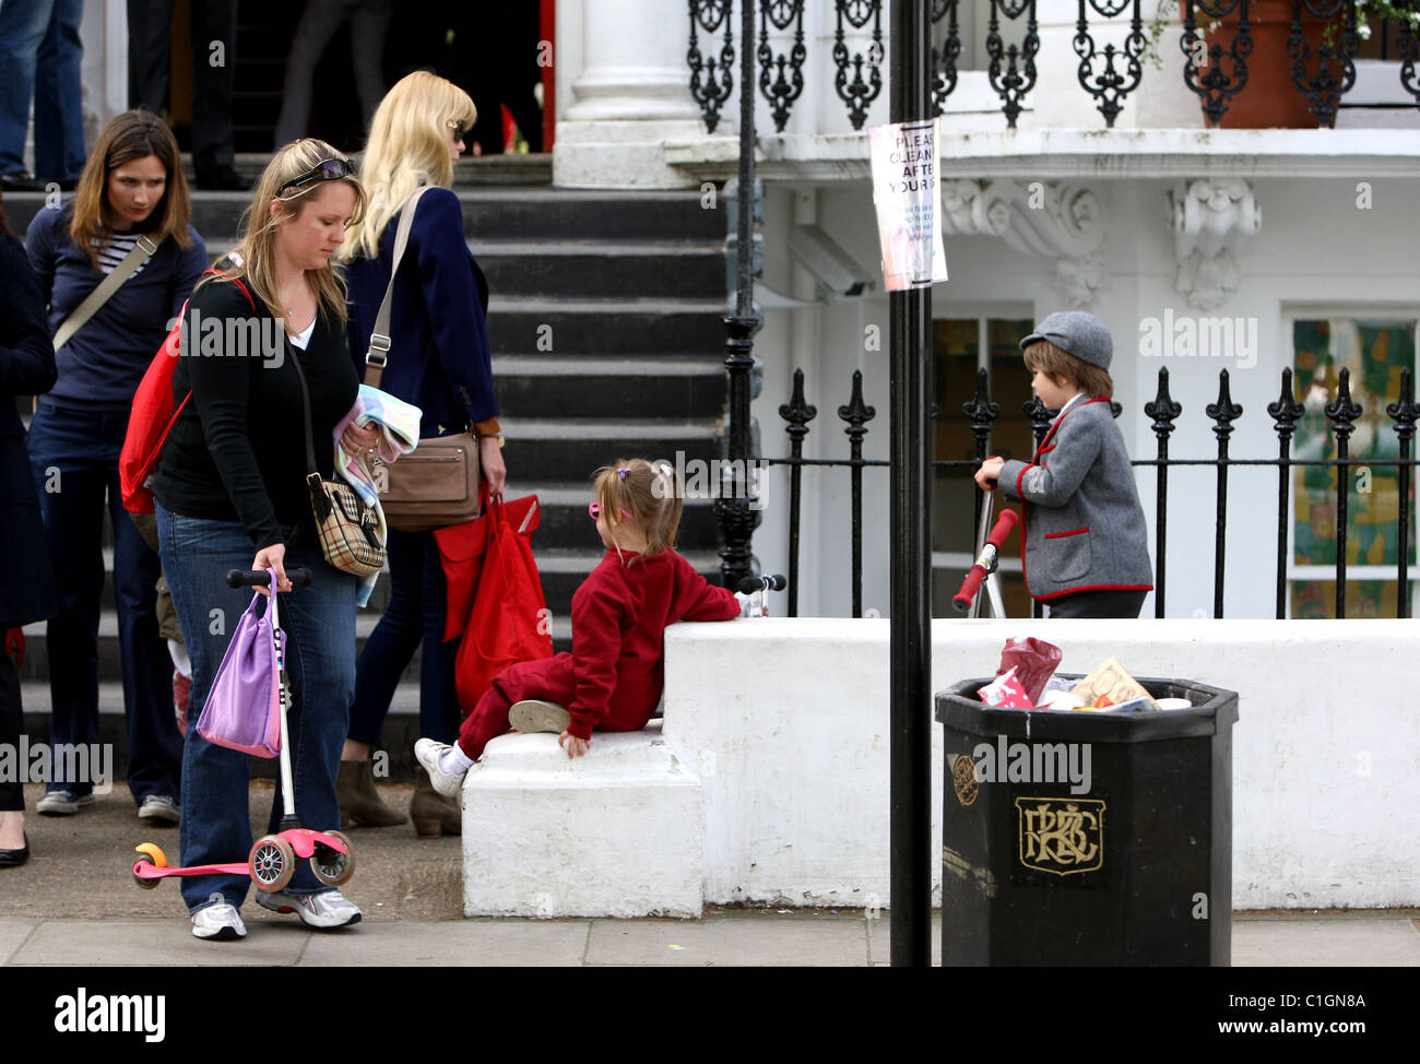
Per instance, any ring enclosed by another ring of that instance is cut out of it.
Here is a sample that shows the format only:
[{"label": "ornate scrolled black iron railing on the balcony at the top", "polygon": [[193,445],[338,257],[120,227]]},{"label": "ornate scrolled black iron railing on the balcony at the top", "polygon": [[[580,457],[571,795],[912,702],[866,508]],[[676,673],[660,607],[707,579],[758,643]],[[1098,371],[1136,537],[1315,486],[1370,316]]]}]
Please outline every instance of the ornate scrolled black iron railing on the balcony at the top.
[{"label": "ornate scrolled black iron railing on the balcony at the top", "polygon": [[[741,41],[758,64],[758,91],[768,101],[774,126],[782,132],[795,102],[804,95],[808,50],[804,17],[809,0],[750,0],[758,4],[758,40]],[[963,45],[961,0],[923,0],[934,27],[932,47],[933,102],[943,114],[960,81]],[[1217,126],[1238,94],[1248,89],[1248,63],[1258,53],[1260,0],[1177,0],[1176,21],[1183,27],[1184,85],[1198,97],[1208,125]],[[700,104],[706,128],[714,132],[721,109],[734,92],[736,41],[731,9],[736,0],[687,0],[690,13],[690,92]],[[746,0],[740,0],[746,3]],[[883,0],[818,0],[834,13],[834,91],[853,129],[868,121],[868,108],[883,89]],[[1078,0],[1072,47],[1079,57],[1076,77],[1105,125],[1113,128],[1129,95],[1139,88],[1150,47],[1140,0]],[[1420,11],[1420,0],[1392,0],[1399,11]],[[1319,125],[1331,126],[1342,98],[1356,84],[1355,58],[1362,45],[1356,0],[1291,0],[1291,23],[1284,41],[1268,40],[1262,50],[1282,48],[1291,60],[1291,88],[1305,97]],[[1035,0],[990,0],[983,44],[987,81],[1001,98],[1005,124],[1014,129],[1037,87],[1035,58],[1041,47]],[[1394,44],[1402,88],[1420,107],[1420,30],[1394,18],[1369,27]],[[714,48],[716,34],[723,43]],[[1007,41],[1007,37],[1015,40]],[[1387,53],[1389,54],[1389,53]]]}]

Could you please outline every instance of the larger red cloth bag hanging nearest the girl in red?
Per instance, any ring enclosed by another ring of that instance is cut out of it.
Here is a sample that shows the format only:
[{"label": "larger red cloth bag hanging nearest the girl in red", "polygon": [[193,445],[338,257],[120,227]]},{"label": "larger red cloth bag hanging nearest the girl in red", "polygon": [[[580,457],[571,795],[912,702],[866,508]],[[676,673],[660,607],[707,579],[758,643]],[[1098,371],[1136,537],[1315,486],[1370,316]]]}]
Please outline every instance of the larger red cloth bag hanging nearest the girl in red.
[{"label": "larger red cloth bag hanging nearest the girl in red", "polygon": [[483,516],[467,523],[483,523],[486,537],[477,591],[454,665],[459,705],[466,716],[506,668],[552,656],[552,621],[530,538],[538,517],[537,496],[514,503],[494,496]]}]

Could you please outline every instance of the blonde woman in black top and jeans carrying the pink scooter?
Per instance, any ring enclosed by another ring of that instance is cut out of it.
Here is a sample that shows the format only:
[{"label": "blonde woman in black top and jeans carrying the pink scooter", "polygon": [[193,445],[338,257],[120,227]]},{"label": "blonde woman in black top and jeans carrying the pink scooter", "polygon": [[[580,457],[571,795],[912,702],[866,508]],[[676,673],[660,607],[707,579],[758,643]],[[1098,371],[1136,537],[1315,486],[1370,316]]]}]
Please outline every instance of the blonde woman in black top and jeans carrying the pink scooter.
[{"label": "blonde woman in black top and jeans carrying the pink scooter", "polygon": [[[192,656],[183,750],[185,865],[244,861],[251,849],[246,754],[213,746],[192,726],[248,591],[229,570],[275,574],[293,705],[288,747],[302,827],[339,827],[335,773],[355,690],[356,577],[325,563],[305,483],[305,430],[315,465],[335,476],[335,426],[355,405],[359,382],[345,345],[345,287],[331,257],[365,210],[349,161],[321,141],[278,151],[257,182],[233,268],[204,278],[183,318],[173,396],[192,391],[163,445],[153,496],[163,572]],[[310,413],[307,415],[307,409]],[[351,453],[375,433],[348,429]],[[254,554],[253,554],[254,551]],[[288,565],[311,571],[291,590]],[[280,824],[280,783],[270,830]],[[193,933],[246,935],[237,912],[246,875],[182,879]],[[283,891],[257,895],[267,909],[295,912],[312,928],[342,928],[361,912],[324,888],[304,862]]]}]

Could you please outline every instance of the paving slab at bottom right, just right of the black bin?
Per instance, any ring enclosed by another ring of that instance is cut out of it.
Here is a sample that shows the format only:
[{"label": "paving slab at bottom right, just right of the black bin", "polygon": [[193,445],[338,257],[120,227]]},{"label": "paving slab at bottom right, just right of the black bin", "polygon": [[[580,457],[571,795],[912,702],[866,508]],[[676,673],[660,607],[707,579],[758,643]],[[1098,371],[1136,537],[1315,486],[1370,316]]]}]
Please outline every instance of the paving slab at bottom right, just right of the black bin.
[{"label": "paving slab at bottom right, just right of the black bin", "polygon": [[1414,967],[1420,929],[1407,916],[1375,912],[1234,916],[1234,967]]}]

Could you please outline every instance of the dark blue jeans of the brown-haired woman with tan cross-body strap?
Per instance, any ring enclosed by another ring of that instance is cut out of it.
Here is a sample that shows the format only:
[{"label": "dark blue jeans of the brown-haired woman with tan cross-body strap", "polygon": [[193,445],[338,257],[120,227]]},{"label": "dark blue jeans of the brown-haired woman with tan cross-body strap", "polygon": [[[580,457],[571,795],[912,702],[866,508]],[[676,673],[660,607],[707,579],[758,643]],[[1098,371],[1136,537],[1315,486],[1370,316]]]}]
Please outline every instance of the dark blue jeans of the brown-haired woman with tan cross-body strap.
[{"label": "dark blue jeans of the brown-haired woman with tan cross-body strap", "polygon": [[[128,411],[77,411],[41,402],[30,425],[30,469],[54,560],[60,612],[50,621],[53,743],[98,743],[98,622],[104,594],[104,509],[114,524],[114,599],[128,722],[128,788],[133,801],[178,798],[182,736],[173,723],[173,663],[158,635],[158,555],[138,534],[118,484]],[[48,790],[88,794],[62,759]]]}]

